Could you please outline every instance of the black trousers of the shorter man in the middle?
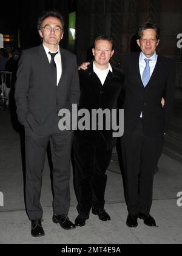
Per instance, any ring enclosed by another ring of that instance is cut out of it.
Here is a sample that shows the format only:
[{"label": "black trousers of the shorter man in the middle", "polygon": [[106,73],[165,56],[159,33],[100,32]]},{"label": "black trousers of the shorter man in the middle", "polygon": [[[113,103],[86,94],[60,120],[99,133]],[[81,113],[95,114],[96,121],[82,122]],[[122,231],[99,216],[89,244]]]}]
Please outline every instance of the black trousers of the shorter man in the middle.
[{"label": "black trousers of the shorter man in the middle", "polygon": [[112,149],[99,150],[94,144],[86,144],[74,139],[75,189],[78,212],[88,214],[90,209],[104,209],[107,167],[110,164]]}]

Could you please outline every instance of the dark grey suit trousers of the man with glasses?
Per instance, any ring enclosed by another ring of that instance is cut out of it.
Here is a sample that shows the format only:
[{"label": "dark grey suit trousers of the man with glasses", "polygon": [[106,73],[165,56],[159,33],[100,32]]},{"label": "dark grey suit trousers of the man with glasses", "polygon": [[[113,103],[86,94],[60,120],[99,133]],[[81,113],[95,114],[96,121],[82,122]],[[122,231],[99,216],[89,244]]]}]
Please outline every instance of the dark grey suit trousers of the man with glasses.
[{"label": "dark grey suit trousers of the man with glasses", "polygon": [[72,149],[72,131],[59,131],[41,136],[25,127],[25,205],[30,220],[42,218],[40,203],[42,171],[45,154],[50,141],[53,162],[53,212],[66,214],[70,206],[70,154]]}]

